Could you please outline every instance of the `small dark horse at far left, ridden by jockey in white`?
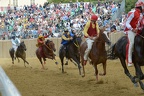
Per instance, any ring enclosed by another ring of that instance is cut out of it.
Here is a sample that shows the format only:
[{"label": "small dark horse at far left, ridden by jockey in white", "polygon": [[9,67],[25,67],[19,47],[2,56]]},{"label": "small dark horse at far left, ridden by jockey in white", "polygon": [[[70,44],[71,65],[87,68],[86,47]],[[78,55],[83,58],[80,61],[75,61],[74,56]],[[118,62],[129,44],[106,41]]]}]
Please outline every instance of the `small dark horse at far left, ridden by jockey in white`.
[{"label": "small dark horse at far left, ridden by jockey in white", "polygon": [[[27,61],[26,61],[26,45],[24,43],[24,41],[22,41],[20,43],[20,45],[18,46],[16,52],[14,51],[14,48],[10,48],[9,50],[9,54],[12,58],[12,63],[14,64],[14,59],[18,59],[18,62],[20,62],[19,58],[21,58],[23,61],[24,61],[24,66],[26,67],[25,63],[29,64]],[[14,57],[14,54],[16,57]]]}]

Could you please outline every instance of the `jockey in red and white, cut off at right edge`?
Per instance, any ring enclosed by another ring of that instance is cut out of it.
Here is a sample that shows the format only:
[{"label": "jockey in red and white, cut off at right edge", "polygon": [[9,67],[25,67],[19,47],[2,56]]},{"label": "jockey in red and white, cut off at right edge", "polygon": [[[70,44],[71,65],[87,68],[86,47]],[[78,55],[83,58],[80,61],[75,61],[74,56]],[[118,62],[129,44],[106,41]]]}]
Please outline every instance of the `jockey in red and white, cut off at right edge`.
[{"label": "jockey in red and white, cut off at right edge", "polygon": [[128,37],[128,44],[127,44],[127,51],[126,51],[126,59],[128,66],[132,66],[132,51],[134,45],[134,38],[138,29],[140,28],[140,22],[142,20],[142,9],[144,7],[144,2],[138,0],[135,4],[135,9],[128,13],[126,22],[125,22],[125,29],[124,31],[127,33]]}]

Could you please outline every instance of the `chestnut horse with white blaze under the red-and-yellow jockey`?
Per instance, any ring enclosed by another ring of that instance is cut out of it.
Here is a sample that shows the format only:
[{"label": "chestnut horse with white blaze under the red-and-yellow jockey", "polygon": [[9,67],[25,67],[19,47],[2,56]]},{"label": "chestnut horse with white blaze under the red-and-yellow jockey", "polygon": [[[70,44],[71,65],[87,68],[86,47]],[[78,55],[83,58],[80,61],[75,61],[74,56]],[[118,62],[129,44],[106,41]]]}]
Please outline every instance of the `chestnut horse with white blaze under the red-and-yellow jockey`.
[{"label": "chestnut horse with white blaze under the red-and-yellow jockey", "polygon": [[[94,66],[95,69],[95,75],[96,75],[96,80],[98,81],[98,69],[97,65],[102,63],[103,64],[103,70],[104,73],[100,75],[106,75],[106,61],[107,61],[107,53],[105,49],[105,42],[110,45],[111,42],[108,38],[108,35],[106,32],[104,32],[105,28],[100,29],[99,37],[95,39],[92,49],[89,53],[89,59],[91,60],[91,64]],[[83,74],[82,76],[85,76],[85,69],[84,69],[84,52],[87,48],[86,41],[83,42],[80,46],[80,55],[81,55],[81,62],[83,66]]]}]

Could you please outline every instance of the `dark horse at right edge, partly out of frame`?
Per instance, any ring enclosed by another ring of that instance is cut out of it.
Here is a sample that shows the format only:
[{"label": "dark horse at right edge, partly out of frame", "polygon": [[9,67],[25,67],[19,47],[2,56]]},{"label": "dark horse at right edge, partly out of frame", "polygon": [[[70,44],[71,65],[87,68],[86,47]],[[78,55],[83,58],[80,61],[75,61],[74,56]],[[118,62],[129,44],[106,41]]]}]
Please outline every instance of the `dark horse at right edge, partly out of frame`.
[{"label": "dark horse at right edge, partly out of frame", "polygon": [[122,67],[124,68],[124,73],[130,78],[132,83],[135,86],[138,86],[137,82],[139,82],[141,88],[144,90],[144,85],[141,81],[144,79],[144,75],[140,67],[140,66],[144,66],[144,28],[142,32],[136,35],[134,39],[134,50],[132,55],[132,62],[134,64],[136,76],[132,76],[130,74],[125,62],[127,43],[128,43],[128,39],[126,36],[120,38],[113,46],[112,49],[113,57],[117,56],[120,59]]}]

